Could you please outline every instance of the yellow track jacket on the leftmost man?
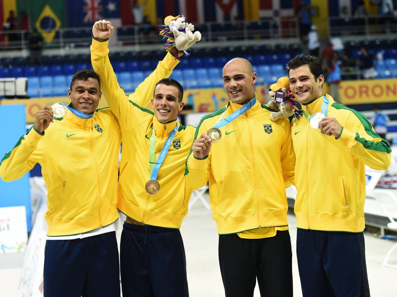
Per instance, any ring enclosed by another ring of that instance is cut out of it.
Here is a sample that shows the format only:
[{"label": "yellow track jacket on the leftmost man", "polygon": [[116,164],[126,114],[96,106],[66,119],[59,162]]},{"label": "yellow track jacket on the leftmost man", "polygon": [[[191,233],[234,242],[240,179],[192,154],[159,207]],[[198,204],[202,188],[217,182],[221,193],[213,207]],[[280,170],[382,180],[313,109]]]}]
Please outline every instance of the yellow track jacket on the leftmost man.
[{"label": "yellow track jacket on the leftmost man", "polygon": [[109,108],[82,119],[68,110],[44,135],[31,129],[1,160],[4,181],[20,178],[36,163],[47,185],[47,235],[61,236],[107,226],[117,213],[121,131]]}]

